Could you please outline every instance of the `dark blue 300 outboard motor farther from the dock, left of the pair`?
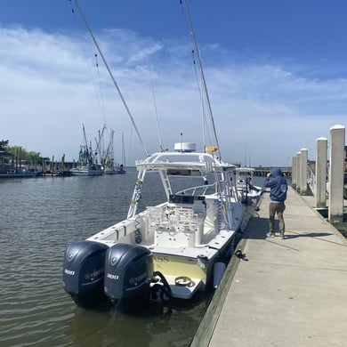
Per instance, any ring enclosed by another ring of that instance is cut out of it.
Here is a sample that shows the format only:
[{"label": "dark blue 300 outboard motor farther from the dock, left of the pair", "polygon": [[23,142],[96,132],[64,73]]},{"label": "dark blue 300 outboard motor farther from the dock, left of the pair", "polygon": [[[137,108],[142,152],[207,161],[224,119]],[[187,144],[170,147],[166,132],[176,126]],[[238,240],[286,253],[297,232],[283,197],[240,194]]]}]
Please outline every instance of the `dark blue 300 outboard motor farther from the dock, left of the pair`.
[{"label": "dark blue 300 outboard motor farther from the dock, left of the pair", "polygon": [[77,241],[64,255],[62,286],[81,307],[105,300],[103,279],[108,246],[93,241]]}]

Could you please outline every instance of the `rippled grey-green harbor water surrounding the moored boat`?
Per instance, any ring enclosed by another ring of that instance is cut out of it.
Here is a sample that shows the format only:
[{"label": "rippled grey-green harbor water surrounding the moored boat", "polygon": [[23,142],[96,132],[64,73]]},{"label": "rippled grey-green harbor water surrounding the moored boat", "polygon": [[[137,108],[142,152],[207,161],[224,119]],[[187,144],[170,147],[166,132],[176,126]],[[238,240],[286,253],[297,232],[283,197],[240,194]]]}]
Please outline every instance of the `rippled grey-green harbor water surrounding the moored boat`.
[{"label": "rippled grey-green harbor water surrounding the moored boat", "polygon": [[[0,181],[0,346],[190,344],[210,295],[184,307],[149,303],[141,313],[125,315],[111,306],[80,309],[61,286],[65,248],[125,218],[135,177],[133,169]],[[142,206],[162,195],[152,180]]]}]

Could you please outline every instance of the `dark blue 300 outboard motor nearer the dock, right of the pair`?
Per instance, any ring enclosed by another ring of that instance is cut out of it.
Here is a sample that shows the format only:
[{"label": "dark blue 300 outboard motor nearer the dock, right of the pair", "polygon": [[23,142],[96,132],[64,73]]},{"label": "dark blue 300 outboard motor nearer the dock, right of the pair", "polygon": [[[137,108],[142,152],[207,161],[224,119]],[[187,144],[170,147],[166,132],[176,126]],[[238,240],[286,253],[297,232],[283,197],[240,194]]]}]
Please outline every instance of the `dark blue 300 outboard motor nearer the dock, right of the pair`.
[{"label": "dark blue 300 outboard motor nearer the dock, right of the pair", "polygon": [[146,247],[117,244],[109,248],[105,261],[105,294],[123,311],[132,311],[149,300],[149,278],[153,258]]}]

